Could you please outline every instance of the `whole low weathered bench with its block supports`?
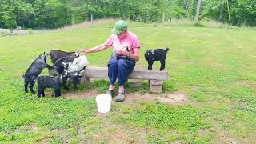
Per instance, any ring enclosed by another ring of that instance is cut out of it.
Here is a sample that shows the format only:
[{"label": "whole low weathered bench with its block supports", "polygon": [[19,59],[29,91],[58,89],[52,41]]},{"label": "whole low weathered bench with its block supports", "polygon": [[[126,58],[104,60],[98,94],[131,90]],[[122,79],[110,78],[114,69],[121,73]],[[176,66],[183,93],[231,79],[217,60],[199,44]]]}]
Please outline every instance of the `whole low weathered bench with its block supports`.
[{"label": "whole low weathered bench with its block supports", "polygon": [[[108,78],[108,68],[107,67],[86,67],[83,72],[82,77],[85,78],[86,83],[90,83],[90,78]],[[162,92],[162,83],[169,79],[166,70],[156,71],[156,70],[138,70],[134,69],[133,72],[128,76],[128,79],[142,79],[148,80],[150,91],[152,92]]]}]

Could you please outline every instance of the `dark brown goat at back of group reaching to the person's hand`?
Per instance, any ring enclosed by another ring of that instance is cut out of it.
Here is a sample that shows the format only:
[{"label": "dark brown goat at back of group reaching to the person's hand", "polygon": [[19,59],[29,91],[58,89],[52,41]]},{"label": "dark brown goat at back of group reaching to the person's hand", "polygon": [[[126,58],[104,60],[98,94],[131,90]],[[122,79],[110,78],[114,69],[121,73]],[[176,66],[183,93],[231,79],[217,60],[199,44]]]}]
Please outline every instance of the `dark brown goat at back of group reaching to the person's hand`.
[{"label": "dark brown goat at back of group reaching to the person's hand", "polygon": [[47,56],[50,55],[50,60],[53,64],[55,64],[55,62],[63,57],[68,57],[70,55],[75,55],[75,52],[66,52],[66,51],[62,51],[62,50],[50,50],[49,53],[47,53]]}]

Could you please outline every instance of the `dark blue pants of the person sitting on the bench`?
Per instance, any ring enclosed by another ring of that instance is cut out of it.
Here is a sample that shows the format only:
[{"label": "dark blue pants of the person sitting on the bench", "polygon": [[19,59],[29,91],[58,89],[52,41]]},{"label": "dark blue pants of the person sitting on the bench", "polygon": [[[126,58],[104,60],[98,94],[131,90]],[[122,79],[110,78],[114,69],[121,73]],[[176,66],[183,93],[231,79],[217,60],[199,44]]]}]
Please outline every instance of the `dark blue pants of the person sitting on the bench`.
[{"label": "dark blue pants of the person sitting on the bench", "polygon": [[128,74],[134,70],[135,63],[133,60],[111,58],[107,65],[110,84],[114,85],[114,82],[118,78],[118,85],[124,86]]}]

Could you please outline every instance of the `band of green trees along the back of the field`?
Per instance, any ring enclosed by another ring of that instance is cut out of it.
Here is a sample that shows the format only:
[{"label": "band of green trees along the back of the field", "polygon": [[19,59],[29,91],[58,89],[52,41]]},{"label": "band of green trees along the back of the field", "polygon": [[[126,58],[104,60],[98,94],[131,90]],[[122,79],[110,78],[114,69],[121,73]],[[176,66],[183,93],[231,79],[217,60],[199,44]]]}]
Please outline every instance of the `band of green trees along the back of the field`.
[{"label": "band of green trees along the back of the field", "polygon": [[[256,26],[256,0],[200,0],[199,19]],[[229,5],[228,5],[229,4]],[[198,0],[1,0],[0,27],[56,28],[94,18],[127,18],[161,22],[173,18],[194,19]]]}]

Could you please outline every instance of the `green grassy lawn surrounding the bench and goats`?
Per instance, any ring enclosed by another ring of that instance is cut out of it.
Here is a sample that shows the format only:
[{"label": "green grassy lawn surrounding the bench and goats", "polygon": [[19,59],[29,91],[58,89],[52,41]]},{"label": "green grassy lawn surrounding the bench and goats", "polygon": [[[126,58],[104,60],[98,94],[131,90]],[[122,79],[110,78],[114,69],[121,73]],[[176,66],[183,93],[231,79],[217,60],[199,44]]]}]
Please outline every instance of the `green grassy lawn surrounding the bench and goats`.
[{"label": "green grassy lawn surrounding the bench and goats", "polygon": [[[171,80],[164,82],[164,90],[165,94],[186,94],[189,101],[182,105],[114,102],[110,114],[102,116],[97,114],[94,98],[25,94],[21,76],[38,54],[90,48],[106,42],[110,30],[110,23],[104,23],[93,28],[81,25],[42,34],[0,36],[0,143],[256,142],[255,30],[130,27],[142,43],[138,67],[146,68],[146,50],[171,48],[166,60]],[[106,66],[109,55],[106,50],[87,58],[90,66]],[[159,67],[155,63],[154,69]],[[107,85],[97,81],[73,93],[94,89],[102,93]],[[127,87],[130,94],[147,92],[146,82],[142,87],[130,83]]]}]

